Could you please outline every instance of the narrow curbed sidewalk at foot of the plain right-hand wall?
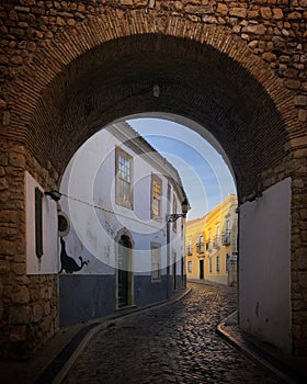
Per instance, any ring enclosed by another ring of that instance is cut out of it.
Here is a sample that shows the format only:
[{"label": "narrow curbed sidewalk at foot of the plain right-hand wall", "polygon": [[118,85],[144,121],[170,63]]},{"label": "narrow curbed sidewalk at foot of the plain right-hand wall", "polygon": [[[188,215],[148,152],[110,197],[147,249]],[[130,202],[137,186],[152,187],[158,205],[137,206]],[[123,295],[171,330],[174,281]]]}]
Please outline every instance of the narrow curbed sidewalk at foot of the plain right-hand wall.
[{"label": "narrow curbed sidewalk at foot of the plain right-hand wall", "polygon": [[[275,364],[271,363],[269,360],[273,361],[275,358],[270,355],[269,352],[262,350],[260,347],[252,343],[250,340],[243,340],[239,341],[234,337],[234,335],[230,335],[226,329],[227,323],[232,319],[235,316],[238,315],[238,310],[235,310],[232,314],[227,316],[221,323],[219,323],[216,327],[217,332],[226,340],[228,341],[232,347],[241,350],[247,357],[252,359],[257,364],[264,368],[266,371],[275,374],[280,379],[283,380],[284,383],[288,384],[297,384],[303,383],[303,381],[297,381],[287,375],[286,373],[282,372]],[[280,362],[282,364],[282,362]],[[306,382],[305,382],[306,383]]]}]

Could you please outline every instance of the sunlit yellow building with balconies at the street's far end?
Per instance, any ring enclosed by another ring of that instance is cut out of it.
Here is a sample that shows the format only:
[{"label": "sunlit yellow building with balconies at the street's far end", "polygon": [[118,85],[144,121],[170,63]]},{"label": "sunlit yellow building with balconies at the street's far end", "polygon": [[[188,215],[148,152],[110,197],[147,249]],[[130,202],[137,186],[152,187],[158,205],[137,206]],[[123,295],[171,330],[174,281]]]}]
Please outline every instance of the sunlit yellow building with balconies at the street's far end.
[{"label": "sunlit yellow building with balconies at the street's far end", "polygon": [[203,217],[186,222],[186,278],[237,282],[237,196],[228,195]]}]

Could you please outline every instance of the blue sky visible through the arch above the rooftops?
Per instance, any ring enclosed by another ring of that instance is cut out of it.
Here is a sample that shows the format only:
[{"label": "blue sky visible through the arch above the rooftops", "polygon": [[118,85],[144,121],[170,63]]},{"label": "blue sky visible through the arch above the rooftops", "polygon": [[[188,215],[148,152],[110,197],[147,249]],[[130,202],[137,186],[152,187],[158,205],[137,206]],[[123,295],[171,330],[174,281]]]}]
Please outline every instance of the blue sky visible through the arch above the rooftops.
[{"label": "blue sky visible through the arch above the rooftops", "polygon": [[194,131],[160,118],[134,118],[127,123],[179,171],[192,207],[187,219],[203,216],[229,193],[236,194],[224,159]]}]

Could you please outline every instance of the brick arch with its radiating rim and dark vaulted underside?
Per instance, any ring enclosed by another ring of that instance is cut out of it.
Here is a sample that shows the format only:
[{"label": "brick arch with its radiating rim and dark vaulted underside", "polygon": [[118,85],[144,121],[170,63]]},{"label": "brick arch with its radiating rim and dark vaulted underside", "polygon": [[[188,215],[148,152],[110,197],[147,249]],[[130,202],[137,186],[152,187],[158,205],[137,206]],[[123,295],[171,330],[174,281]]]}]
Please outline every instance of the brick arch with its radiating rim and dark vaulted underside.
[{"label": "brick arch with its radiating rim and dark vaulted underside", "polygon": [[[155,83],[159,98],[152,95]],[[246,180],[247,192],[259,172],[281,161],[296,129],[287,91],[227,27],[148,18],[145,11],[127,11],[121,20],[110,11],[58,35],[14,86],[14,98],[23,103],[13,103],[12,132],[22,131],[43,166],[48,153],[59,172],[104,124],[163,111],[206,126],[230,158],[238,184]],[[268,124],[271,132],[263,138],[261,126]]]}]

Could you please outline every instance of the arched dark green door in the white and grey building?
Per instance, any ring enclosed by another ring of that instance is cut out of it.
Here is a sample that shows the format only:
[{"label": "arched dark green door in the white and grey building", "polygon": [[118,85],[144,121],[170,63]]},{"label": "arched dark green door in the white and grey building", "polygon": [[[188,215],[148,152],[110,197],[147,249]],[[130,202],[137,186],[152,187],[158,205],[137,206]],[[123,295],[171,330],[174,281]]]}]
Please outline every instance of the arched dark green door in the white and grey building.
[{"label": "arched dark green door in the white and grey building", "polygon": [[117,305],[118,308],[132,304],[132,273],[130,273],[132,244],[127,236],[118,241],[117,257]]}]

